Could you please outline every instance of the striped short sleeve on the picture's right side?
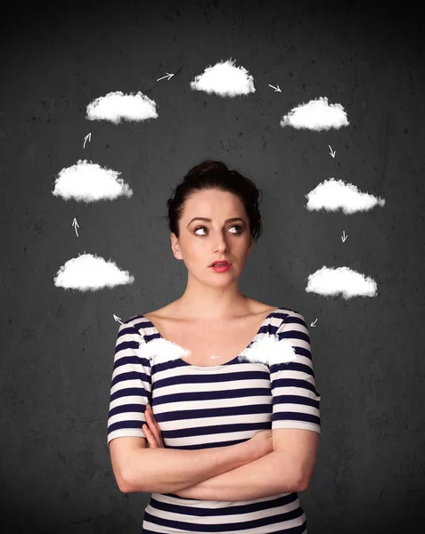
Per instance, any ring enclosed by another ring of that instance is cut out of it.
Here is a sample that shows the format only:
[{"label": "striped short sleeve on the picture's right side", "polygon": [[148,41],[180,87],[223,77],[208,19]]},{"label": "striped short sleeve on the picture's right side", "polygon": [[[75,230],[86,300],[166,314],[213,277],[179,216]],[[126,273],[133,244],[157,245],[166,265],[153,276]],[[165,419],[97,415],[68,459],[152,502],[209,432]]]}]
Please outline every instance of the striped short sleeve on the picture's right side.
[{"label": "striped short sleeve on the picture's right side", "polygon": [[[304,317],[290,311],[277,328],[275,336],[279,343],[289,342],[297,357],[292,361],[283,361],[282,358],[282,362],[276,361],[270,366],[272,430],[300,428],[320,433],[321,397],[315,388],[310,336]],[[287,350],[283,353],[287,354]]]}]

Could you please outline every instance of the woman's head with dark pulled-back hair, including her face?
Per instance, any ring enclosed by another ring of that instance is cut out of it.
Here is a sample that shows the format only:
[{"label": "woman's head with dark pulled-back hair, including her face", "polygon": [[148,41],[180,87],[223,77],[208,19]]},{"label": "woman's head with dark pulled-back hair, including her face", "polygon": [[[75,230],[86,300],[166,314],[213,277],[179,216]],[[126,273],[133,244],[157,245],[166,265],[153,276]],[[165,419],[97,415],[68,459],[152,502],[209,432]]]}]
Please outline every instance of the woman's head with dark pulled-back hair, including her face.
[{"label": "woman's head with dark pulled-back hair, including her face", "polygon": [[[218,285],[229,282],[229,277],[239,278],[262,231],[260,193],[249,178],[212,160],[194,166],[177,185],[174,197],[168,199],[172,249],[195,278],[212,273]],[[210,263],[223,259],[232,263],[231,268],[215,274]]]}]

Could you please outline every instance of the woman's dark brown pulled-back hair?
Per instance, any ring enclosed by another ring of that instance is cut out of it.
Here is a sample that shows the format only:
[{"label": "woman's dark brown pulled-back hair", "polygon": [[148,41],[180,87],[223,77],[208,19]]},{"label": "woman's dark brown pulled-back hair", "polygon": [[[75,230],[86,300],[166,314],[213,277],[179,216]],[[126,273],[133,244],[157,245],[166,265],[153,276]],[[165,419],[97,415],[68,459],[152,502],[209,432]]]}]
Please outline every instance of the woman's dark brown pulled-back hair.
[{"label": "woman's dark brown pulled-back hair", "polygon": [[[258,197],[263,191],[258,190],[254,182],[237,171],[230,170],[221,161],[206,159],[184,176],[173,190],[174,197],[168,198],[168,227],[169,231],[179,238],[178,223],[183,214],[184,202],[192,193],[201,190],[229,191],[241,198],[249,218],[249,231],[254,241],[257,241],[262,232],[261,214],[258,211]],[[261,202],[261,199],[260,199]]]}]

